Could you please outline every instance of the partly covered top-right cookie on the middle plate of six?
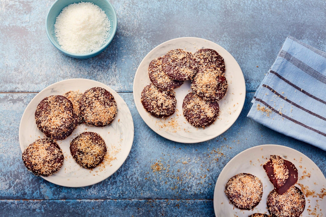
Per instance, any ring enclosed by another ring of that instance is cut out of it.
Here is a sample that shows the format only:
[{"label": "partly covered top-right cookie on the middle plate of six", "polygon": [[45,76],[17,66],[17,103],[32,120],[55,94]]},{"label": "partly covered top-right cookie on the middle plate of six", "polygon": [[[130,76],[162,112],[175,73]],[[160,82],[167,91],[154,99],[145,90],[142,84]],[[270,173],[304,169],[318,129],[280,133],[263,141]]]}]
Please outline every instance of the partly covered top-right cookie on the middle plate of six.
[{"label": "partly covered top-right cookie on the middle plate of six", "polygon": [[194,53],[194,57],[198,70],[204,67],[215,67],[219,68],[223,73],[225,72],[223,57],[213,49],[200,49]]}]

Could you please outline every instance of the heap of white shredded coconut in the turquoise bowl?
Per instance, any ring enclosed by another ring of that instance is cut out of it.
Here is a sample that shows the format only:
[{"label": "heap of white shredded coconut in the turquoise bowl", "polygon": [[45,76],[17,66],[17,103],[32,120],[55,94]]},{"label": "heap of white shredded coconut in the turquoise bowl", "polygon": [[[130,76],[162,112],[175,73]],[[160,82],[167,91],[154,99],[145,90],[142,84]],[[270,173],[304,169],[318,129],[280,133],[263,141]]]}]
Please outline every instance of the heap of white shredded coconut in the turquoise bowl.
[{"label": "heap of white shredded coconut in the turquoise bowl", "polygon": [[65,7],[54,24],[55,36],[62,49],[71,53],[90,53],[103,46],[110,35],[110,20],[91,2]]}]

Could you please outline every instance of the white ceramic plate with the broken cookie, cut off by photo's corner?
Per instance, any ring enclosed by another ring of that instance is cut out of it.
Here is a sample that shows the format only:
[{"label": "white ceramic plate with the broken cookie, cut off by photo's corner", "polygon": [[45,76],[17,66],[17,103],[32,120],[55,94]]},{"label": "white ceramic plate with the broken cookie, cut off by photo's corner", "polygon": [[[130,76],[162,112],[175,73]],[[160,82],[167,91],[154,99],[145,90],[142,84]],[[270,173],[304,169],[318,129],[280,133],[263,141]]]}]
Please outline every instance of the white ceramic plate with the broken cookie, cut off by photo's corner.
[{"label": "white ceramic plate with the broken cookie, cut off by photo's corner", "polygon": [[[280,155],[292,162],[298,169],[298,182],[295,186],[302,192],[314,192],[305,196],[306,206],[301,216],[325,216],[326,215],[326,179],[318,166],[303,153],[281,145],[260,145],[249,148],[230,160],[219,175],[214,190],[214,211],[216,217],[245,216],[253,213],[269,213],[266,206],[267,195],[273,190],[273,184],[269,181],[262,165],[267,162],[270,155]],[[240,210],[229,203],[224,193],[225,185],[229,179],[238,173],[251,173],[257,176],[263,184],[263,195],[258,206],[253,210]],[[310,174],[310,177],[308,175]],[[324,192],[324,193],[322,193]],[[323,198],[320,198],[322,196]],[[309,207],[309,208],[308,208]],[[316,212],[314,212],[316,208]],[[319,215],[318,215],[319,214]]]}]

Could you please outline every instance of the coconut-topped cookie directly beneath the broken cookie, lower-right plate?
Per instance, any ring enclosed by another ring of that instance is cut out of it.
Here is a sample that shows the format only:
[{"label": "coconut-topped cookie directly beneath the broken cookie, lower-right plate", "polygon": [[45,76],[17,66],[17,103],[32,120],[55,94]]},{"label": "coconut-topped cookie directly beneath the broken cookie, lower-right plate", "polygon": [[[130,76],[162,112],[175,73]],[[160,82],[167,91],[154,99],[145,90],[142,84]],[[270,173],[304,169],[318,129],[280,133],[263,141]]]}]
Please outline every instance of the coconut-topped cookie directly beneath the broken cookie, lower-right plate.
[{"label": "coconut-topped cookie directly beneath the broken cookie, lower-right plate", "polygon": [[299,217],[305,208],[305,198],[302,191],[292,186],[280,195],[275,189],[267,196],[267,209],[276,217]]}]

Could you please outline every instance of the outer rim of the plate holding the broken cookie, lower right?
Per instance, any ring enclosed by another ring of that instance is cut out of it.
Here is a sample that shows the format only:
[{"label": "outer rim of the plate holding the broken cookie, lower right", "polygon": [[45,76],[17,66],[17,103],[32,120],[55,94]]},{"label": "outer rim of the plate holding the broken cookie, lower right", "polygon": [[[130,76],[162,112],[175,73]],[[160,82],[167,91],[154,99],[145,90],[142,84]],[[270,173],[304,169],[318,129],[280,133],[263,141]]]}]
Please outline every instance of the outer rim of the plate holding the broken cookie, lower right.
[{"label": "outer rim of the plate holding the broken cookie, lower right", "polygon": [[[229,162],[228,162],[228,163],[223,167],[223,169],[221,170],[221,172],[220,172],[220,174],[219,174],[219,176],[218,176],[218,178],[217,178],[217,180],[216,180],[215,187],[214,187],[214,195],[213,195],[213,206],[214,206],[214,214],[215,214],[215,216],[218,216],[218,215],[217,215],[218,213],[217,213],[217,204],[216,204],[217,202],[216,202],[216,198],[217,198],[217,191],[218,191],[218,189],[219,189],[218,181],[219,181],[219,179],[220,179],[220,177],[221,177],[220,175],[222,174],[222,172],[223,172],[224,170],[226,171],[226,167],[229,166],[229,164],[231,165],[231,164],[233,163],[234,159],[236,159],[236,157],[238,157],[239,155],[243,154],[243,152],[248,152],[248,151],[250,151],[250,150],[252,150],[252,149],[259,149],[259,148],[263,148],[263,147],[267,147],[267,146],[270,146],[270,147],[278,147],[278,148],[284,148],[285,150],[288,149],[288,150],[291,150],[292,152],[296,152],[296,153],[298,153],[298,154],[300,154],[300,155],[303,155],[303,156],[305,156],[307,159],[309,159],[309,160],[311,161],[311,163],[312,163],[313,166],[316,166],[316,168],[318,168],[317,171],[321,172],[320,168],[316,165],[316,163],[315,163],[313,160],[311,160],[308,156],[306,156],[304,153],[299,152],[298,150],[293,149],[293,148],[290,148],[290,147],[288,147],[288,146],[277,145],[277,144],[263,144],[263,145],[258,145],[258,146],[254,146],[254,147],[250,147],[250,148],[248,148],[248,149],[245,149],[245,150],[243,150],[242,152],[236,154],[232,159],[230,159],[230,161],[229,161]],[[277,151],[275,151],[275,152],[277,152]],[[322,172],[321,172],[321,174],[322,174]],[[325,176],[323,176],[323,178],[324,178],[324,182],[326,183],[326,178],[325,178]],[[306,208],[305,208],[305,209],[306,209]]]}]

